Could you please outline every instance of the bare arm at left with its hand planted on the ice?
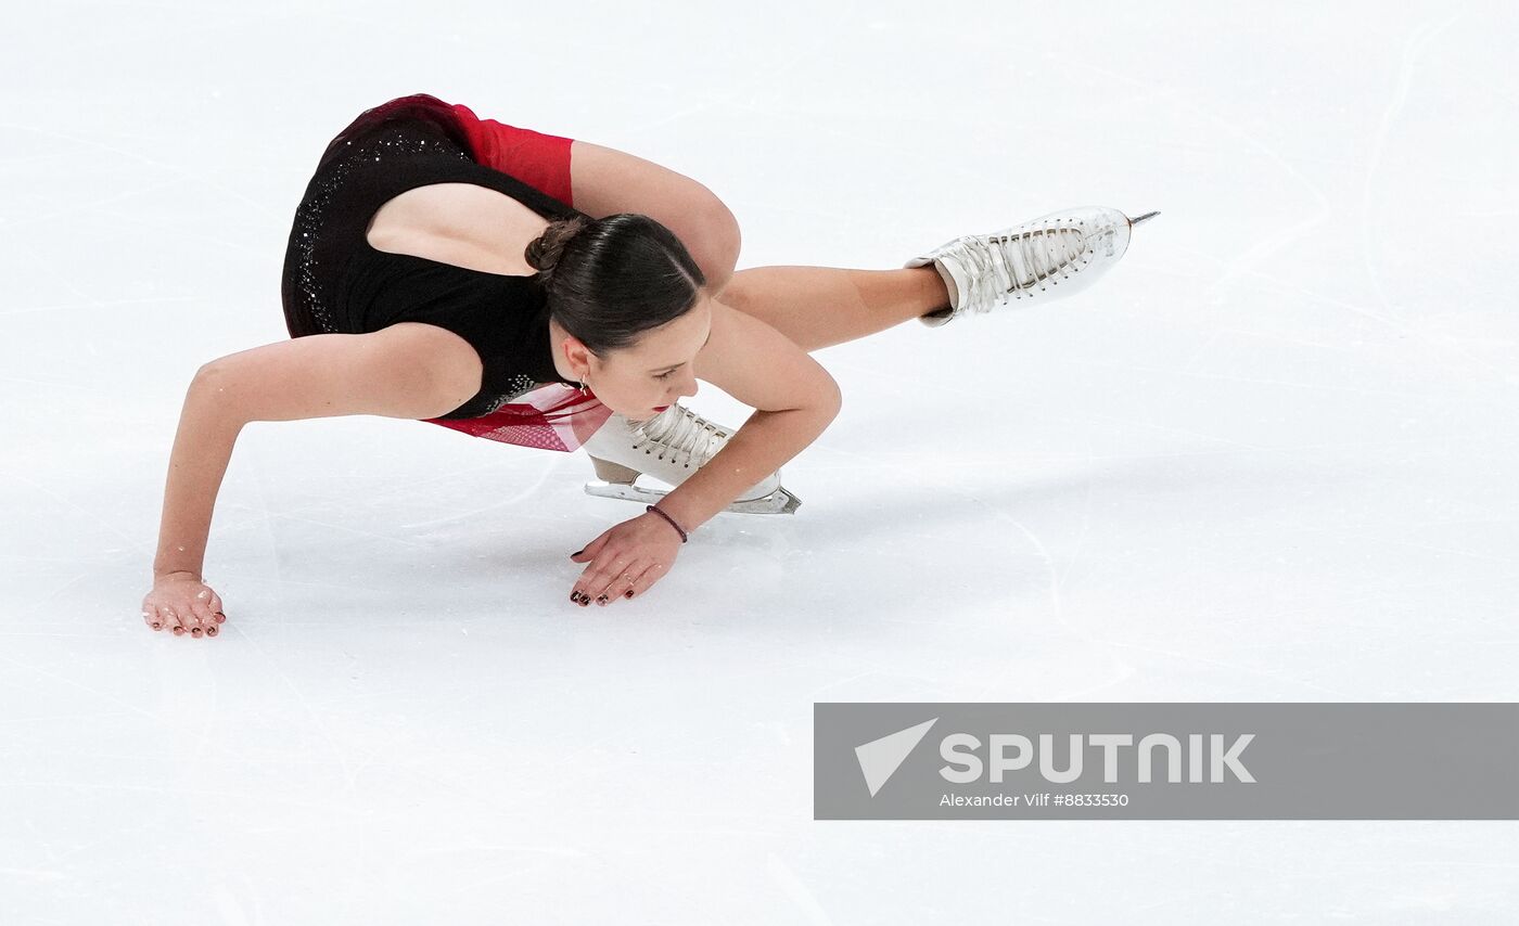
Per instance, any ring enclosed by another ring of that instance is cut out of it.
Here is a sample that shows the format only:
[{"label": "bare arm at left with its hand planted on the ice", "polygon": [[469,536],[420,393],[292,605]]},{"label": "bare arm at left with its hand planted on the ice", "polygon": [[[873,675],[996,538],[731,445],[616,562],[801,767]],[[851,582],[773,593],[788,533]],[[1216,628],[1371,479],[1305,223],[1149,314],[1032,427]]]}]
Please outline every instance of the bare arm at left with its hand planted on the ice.
[{"label": "bare arm at left with its hand planted on the ice", "polygon": [[313,334],[202,366],[185,393],[169,457],[155,591],[143,603],[144,621],[166,630],[208,628],[214,592],[199,601],[196,595],[210,591],[201,569],[211,512],[246,424],[340,414],[437,417],[478,392],[480,373],[480,357],[463,339],[419,323]]}]

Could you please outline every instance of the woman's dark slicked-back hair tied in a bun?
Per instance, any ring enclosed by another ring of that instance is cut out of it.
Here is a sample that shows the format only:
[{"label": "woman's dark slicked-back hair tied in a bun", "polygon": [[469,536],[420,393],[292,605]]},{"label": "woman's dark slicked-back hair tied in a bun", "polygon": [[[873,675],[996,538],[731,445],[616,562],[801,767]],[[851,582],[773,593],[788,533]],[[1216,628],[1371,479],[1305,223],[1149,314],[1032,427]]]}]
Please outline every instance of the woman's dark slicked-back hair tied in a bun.
[{"label": "woman's dark slicked-back hair tied in a bun", "polygon": [[598,357],[679,319],[706,285],[681,238],[638,213],[557,219],[524,257],[539,272],[551,317]]}]

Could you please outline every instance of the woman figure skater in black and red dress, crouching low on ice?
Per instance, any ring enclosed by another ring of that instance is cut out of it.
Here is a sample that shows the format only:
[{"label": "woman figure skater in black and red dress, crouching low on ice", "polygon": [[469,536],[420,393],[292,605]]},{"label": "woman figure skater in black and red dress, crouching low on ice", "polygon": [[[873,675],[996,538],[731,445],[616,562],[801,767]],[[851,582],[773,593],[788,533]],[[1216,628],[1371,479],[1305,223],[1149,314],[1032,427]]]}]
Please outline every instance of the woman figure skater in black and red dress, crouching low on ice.
[{"label": "woman figure skater in black and red dress, crouching low on ice", "polygon": [[[296,208],[281,291],[290,340],[213,360],[187,390],[143,619],[219,633],[226,613],[202,563],[238,433],[339,414],[585,446],[598,477],[588,492],[646,504],[571,554],[585,569],[570,601],[643,595],[718,512],[801,504],[781,465],[842,402],[811,351],[1075,293],[1154,214],[1066,209],[958,237],[899,270],[735,272],[732,213],[673,170],[430,94],[366,109],[327,146]],[[677,399],[697,380],[753,414],[738,430],[693,414]]]}]

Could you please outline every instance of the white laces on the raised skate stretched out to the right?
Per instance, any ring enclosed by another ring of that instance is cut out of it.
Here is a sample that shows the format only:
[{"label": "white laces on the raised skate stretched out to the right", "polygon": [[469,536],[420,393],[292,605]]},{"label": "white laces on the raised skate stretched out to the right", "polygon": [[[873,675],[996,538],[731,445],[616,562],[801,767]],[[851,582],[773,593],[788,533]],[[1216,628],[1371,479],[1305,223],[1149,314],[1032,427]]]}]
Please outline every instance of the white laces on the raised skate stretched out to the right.
[{"label": "white laces on the raised skate stretched out to the right", "polygon": [[1022,290],[1050,281],[1059,285],[1086,266],[1086,235],[1060,220],[1013,234],[962,235],[946,247],[969,270],[969,293],[962,294],[960,311],[990,311]]}]

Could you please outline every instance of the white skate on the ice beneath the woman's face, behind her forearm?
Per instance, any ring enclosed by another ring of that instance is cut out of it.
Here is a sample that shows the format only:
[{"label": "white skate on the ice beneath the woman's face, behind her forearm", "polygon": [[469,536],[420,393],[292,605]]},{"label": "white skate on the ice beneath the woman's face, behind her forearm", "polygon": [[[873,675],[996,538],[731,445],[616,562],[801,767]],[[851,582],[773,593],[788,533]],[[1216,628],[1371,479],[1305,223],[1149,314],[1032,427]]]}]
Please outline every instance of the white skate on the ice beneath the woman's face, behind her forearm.
[{"label": "white skate on the ice beneath the woman's face, behind her forearm", "polygon": [[[679,402],[646,422],[612,414],[583,445],[597,475],[585,484],[585,490],[598,498],[658,504],[670,490],[638,486],[635,481],[639,475],[653,477],[671,487],[679,486],[723,449],[732,431],[693,414]],[[802,499],[781,486],[781,471],[776,469],[725,510],[790,515],[801,504]]]}]

